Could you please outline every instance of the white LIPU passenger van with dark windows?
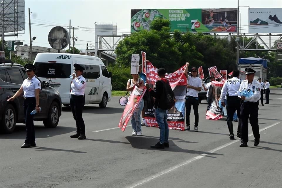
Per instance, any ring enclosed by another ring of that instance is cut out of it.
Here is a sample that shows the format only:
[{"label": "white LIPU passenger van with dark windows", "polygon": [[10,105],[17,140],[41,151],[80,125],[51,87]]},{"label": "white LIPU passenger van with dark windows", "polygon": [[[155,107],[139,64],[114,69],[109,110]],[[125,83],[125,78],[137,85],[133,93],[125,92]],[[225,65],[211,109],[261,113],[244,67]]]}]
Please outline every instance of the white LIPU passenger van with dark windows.
[{"label": "white LIPU passenger van with dark windows", "polygon": [[74,72],[75,63],[85,68],[85,104],[99,104],[100,108],[105,108],[112,96],[112,73],[108,72],[100,58],[70,53],[38,53],[33,64],[37,68],[36,75],[57,89],[62,104],[69,106],[72,83],[70,75]]}]

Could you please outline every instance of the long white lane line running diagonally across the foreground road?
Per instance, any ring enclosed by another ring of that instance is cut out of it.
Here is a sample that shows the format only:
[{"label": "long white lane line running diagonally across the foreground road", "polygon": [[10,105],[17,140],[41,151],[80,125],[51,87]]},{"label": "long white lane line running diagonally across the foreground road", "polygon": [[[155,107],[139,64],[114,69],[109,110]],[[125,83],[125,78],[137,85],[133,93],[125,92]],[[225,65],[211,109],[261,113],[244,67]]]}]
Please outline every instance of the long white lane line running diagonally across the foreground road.
[{"label": "long white lane line running diagonally across the foreground road", "polygon": [[[270,128],[270,127],[273,127],[273,126],[275,126],[275,125],[277,125],[277,124],[279,124],[279,123],[280,123],[280,122],[276,122],[276,123],[273,123],[273,124],[271,124],[271,125],[269,125],[269,126],[267,126],[267,127],[264,127],[264,128],[262,128],[262,129],[260,129],[259,132],[261,132],[261,131],[263,131],[263,130],[266,130],[266,129]],[[249,134],[249,137],[252,136],[252,135],[253,135],[253,133],[250,133],[250,134]],[[157,177],[160,177],[160,176],[162,176],[162,175],[164,175],[164,174],[167,174],[167,173],[169,173],[169,172],[171,172],[171,171],[173,171],[173,170],[175,170],[175,169],[178,169],[179,167],[182,167],[182,166],[184,166],[184,165],[186,165],[186,164],[189,164],[189,163],[191,163],[191,162],[193,162],[193,161],[202,159],[203,157],[205,157],[205,156],[207,156],[207,155],[209,155],[209,154],[212,154],[212,153],[214,153],[214,152],[216,152],[216,151],[218,151],[218,150],[223,149],[224,147],[227,147],[227,146],[229,146],[229,145],[231,145],[231,144],[234,144],[234,143],[236,143],[236,142],[239,142],[239,141],[241,141],[241,140],[234,140],[234,141],[231,141],[231,142],[229,142],[229,143],[227,143],[227,144],[224,144],[224,145],[222,145],[222,146],[216,147],[215,149],[210,150],[210,151],[208,151],[208,152],[205,153],[205,154],[198,155],[198,156],[193,157],[192,159],[189,159],[189,160],[187,160],[187,161],[185,161],[185,162],[179,163],[179,164],[177,164],[177,165],[175,165],[175,166],[173,166],[173,167],[170,167],[170,168],[168,168],[168,169],[165,169],[165,170],[163,170],[163,171],[161,171],[161,172],[159,172],[159,173],[157,173],[157,174],[155,174],[155,175],[152,175],[152,176],[147,177],[147,178],[145,178],[145,179],[143,179],[143,180],[140,180],[140,181],[138,181],[138,182],[136,182],[136,183],[134,183],[134,184],[132,184],[132,185],[126,187],[126,188],[134,188],[134,187],[137,187],[137,186],[139,186],[139,185],[141,185],[141,184],[144,184],[144,183],[146,183],[146,182],[149,182],[149,181],[151,181],[151,180],[153,180],[153,179],[155,179],[155,178],[157,178]]]}]

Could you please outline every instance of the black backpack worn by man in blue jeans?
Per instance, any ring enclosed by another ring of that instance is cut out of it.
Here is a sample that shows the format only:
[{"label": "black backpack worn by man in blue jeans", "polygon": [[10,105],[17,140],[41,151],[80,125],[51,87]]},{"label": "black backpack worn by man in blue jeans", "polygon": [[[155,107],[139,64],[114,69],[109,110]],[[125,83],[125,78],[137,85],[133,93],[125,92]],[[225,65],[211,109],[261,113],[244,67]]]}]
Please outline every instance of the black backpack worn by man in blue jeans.
[{"label": "black backpack worn by man in blue jeans", "polygon": [[169,85],[169,82],[165,83],[163,80],[160,80],[160,82],[163,83],[163,92],[160,96],[160,99],[158,99],[158,106],[163,110],[169,110],[171,109],[175,104],[175,97],[174,93]]}]

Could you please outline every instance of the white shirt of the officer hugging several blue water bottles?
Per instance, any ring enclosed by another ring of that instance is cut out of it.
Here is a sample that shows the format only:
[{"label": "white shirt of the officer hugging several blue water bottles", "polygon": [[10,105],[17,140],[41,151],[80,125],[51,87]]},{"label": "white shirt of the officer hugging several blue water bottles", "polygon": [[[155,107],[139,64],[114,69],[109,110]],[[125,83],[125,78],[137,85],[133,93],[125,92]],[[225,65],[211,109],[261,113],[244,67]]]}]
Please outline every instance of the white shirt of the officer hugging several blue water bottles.
[{"label": "white shirt of the officer hugging several blue water bottles", "polygon": [[254,95],[251,97],[246,97],[246,101],[256,103],[261,98],[261,84],[257,80],[253,80],[252,83],[248,83],[248,80],[242,81],[239,91],[243,89],[252,90]]}]

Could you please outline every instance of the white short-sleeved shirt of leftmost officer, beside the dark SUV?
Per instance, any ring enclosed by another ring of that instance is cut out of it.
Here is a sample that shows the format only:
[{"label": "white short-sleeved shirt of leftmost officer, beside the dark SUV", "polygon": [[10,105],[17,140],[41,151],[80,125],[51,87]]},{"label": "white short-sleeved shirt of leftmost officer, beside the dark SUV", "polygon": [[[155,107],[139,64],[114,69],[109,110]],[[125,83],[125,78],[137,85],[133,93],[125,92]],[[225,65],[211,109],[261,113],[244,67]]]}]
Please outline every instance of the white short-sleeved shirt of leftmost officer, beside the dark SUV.
[{"label": "white short-sleeved shirt of leftmost officer, beside the dark SUV", "polygon": [[26,78],[21,86],[23,86],[24,97],[35,97],[35,90],[41,89],[41,83],[35,76],[30,80]]}]

